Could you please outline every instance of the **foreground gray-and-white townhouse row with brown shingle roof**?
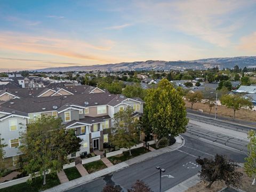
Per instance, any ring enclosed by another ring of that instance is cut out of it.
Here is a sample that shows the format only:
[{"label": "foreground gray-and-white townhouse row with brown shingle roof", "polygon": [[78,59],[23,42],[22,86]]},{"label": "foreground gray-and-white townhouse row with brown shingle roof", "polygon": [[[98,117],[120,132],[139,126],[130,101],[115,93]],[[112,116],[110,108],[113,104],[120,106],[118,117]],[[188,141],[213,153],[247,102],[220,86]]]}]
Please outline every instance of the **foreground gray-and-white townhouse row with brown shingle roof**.
[{"label": "foreground gray-and-white townhouse row with brown shingle roof", "polygon": [[34,122],[41,115],[60,117],[65,129],[74,129],[77,137],[83,139],[81,149],[69,155],[69,158],[74,158],[82,153],[103,150],[103,143],[108,142],[110,127],[117,111],[131,106],[134,118],[140,118],[143,113],[143,100],[140,98],[126,98],[122,94],[110,94],[95,87],[87,87],[86,90],[81,94],[67,95],[55,91],[54,97],[41,95],[2,103],[0,134],[8,145],[4,148],[6,161],[15,165],[19,155],[17,147],[20,145],[20,133],[26,131],[26,124]]}]

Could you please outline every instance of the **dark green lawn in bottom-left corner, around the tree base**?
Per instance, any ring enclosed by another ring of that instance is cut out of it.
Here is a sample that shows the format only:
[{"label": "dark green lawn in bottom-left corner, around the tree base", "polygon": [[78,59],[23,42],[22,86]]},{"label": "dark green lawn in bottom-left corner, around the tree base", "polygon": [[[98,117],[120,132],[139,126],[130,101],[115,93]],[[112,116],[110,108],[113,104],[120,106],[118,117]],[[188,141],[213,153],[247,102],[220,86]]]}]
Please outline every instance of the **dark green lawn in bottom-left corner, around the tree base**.
[{"label": "dark green lawn in bottom-left corner, around the tree base", "polygon": [[14,185],[11,187],[6,187],[4,189],[0,189],[0,192],[26,192],[26,191],[43,191],[45,189],[49,189],[51,187],[57,186],[60,184],[58,176],[55,175],[46,175],[46,185],[43,186],[43,178],[37,177],[32,180],[32,183],[20,183],[18,185]]}]

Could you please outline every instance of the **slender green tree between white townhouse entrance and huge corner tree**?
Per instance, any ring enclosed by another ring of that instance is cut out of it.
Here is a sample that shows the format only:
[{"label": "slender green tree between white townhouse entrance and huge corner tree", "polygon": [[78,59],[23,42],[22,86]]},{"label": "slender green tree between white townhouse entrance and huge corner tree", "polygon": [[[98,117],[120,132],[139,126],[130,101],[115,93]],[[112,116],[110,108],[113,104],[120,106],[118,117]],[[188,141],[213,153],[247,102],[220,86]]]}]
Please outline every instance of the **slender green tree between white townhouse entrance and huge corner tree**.
[{"label": "slender green tree between white townhouse entrance and huge corner tree", "polygon": [[133,109],[127,107],[124,110],[119,110],[114,114],[113,134],[110,135],[111,145],[119,148],[129,149],[130,156],[131,147],[139,141],[138,121],[132,117]]}]

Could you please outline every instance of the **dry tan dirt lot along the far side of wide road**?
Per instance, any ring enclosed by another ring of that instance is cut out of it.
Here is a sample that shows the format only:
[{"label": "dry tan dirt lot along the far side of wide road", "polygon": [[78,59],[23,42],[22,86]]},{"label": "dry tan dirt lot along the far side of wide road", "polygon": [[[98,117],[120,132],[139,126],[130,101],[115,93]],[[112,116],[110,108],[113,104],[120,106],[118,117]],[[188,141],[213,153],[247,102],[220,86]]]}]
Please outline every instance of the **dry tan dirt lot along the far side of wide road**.
[{"label": "dry tan dirt lot along the far side of wide road", "polygon": [[[185,103],[186,103],[187,108],[191,107],[191,104],[188,101],[185,100]],[[195,109],[195,110],[203,109],[204,113],[210,112],[210,107],[204,103],[195,103],[193,105],[193,109]],[[215,114],[215,107],[212,107],[211,114]],[[233,117],[233,114],[234,114],[233,109],[228,109],[225,106],[218,106],[217,115]],[[256,121],[256,111],[240,109],[240,110],[236,111],[236,118],[255,122]]]}]

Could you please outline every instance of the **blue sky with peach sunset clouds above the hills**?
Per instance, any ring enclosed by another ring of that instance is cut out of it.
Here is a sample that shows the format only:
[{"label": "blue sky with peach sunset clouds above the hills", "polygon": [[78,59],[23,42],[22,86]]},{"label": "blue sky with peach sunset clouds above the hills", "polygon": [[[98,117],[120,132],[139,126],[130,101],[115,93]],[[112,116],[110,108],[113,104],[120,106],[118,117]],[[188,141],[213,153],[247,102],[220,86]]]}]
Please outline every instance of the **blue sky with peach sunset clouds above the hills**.
[{"label": "blue sky with peach sunset clouds above the hills", "polygon": [[255,55],[255,0],[0,0],[0,70]]}]

